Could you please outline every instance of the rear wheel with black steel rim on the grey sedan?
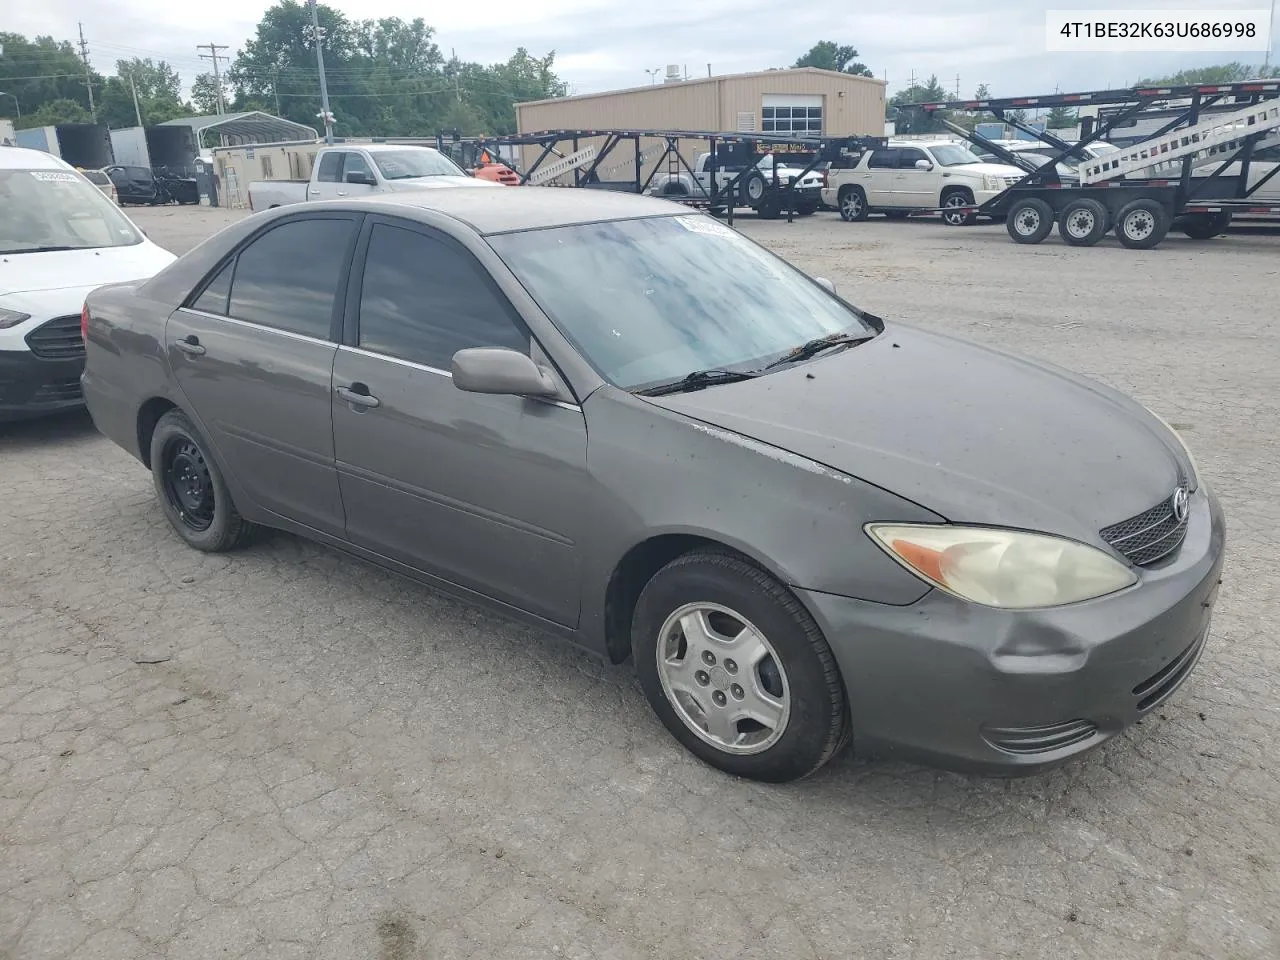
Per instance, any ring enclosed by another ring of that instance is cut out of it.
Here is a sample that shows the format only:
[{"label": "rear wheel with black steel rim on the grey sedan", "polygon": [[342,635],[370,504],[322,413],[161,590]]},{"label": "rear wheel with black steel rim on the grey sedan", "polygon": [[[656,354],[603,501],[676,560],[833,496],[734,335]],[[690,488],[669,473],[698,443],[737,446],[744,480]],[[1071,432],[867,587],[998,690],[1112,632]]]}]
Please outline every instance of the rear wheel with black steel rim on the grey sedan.
[{"label": "rear wheel with black steel rim on the grey sedan", "polygon": [[209,444],[180,410],[170,410],[151,435],[151,479],[165,520],[189,547],[223,553],[257,532],[232,502]]}]

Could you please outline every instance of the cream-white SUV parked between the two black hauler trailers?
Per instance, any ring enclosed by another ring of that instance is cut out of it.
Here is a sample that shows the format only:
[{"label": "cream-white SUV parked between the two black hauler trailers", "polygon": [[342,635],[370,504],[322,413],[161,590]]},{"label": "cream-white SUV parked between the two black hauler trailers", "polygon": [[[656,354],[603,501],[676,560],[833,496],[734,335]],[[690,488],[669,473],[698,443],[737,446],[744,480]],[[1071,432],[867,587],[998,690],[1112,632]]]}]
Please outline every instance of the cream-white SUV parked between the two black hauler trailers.
[{"label": "cream-white SUV parked between the two black hauler trailers", "polygon": [[[845,220],[865,220],[873,212],[906,216],[913,210],[984,204],[1025,175],[1016,166],[983,163],[964,143],[890,141],[887,147],[859,156],[850,168],[829,169],[822,201],[840,210]],[[978,216],[956,210],[942,219],[959,225]]]}]

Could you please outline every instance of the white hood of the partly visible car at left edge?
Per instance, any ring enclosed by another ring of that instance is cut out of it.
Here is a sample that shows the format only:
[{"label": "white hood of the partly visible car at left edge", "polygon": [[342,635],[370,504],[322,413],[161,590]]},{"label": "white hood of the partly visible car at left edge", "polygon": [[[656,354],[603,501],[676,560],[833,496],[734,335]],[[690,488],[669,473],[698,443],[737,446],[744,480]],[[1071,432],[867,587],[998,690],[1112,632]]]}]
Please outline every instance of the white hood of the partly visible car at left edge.
[{"label": "white hood of the partly visible car at left edge", "polygon": [[[0,256],[0,297],[42,291],[93,289],[154,275],[177,257],[150,241],[128,247],[55,250]],[[83,300],[83,297],[82,297]],[[79,307],[76,307],[79,311]]]}]

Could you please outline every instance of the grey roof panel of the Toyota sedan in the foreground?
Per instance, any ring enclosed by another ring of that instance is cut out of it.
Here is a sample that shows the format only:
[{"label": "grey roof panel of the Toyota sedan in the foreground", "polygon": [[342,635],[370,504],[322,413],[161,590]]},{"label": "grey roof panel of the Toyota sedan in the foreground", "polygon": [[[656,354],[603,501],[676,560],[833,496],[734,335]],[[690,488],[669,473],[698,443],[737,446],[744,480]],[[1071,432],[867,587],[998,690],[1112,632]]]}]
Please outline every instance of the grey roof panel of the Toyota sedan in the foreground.
[{"label": "grey roof panel of the Toyota sedan in the foreground", "polygon": [[403,214],[404,207],[434,210],[480,234],[695,212],[668,200],[589,187],[456,187],[404,191],[346,202],[390,207],[388,214]]}]

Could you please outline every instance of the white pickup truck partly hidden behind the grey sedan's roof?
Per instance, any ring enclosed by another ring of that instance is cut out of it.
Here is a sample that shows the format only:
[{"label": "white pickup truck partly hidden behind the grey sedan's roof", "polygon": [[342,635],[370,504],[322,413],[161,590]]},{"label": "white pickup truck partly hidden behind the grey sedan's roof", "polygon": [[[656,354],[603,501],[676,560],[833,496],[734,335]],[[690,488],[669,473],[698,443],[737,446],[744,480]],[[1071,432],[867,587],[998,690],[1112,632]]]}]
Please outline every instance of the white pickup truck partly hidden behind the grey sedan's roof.
[{"label": "white pickup truck partly hidden behind the grey sedan's roof", "polygon": [[468,175],[433,147],[399,143],[352,143],[321,147],[310,180],[253,180],[251,210],[269,210],[305,200],[340,200],[369,193],[435,187],[500,187]]}]

